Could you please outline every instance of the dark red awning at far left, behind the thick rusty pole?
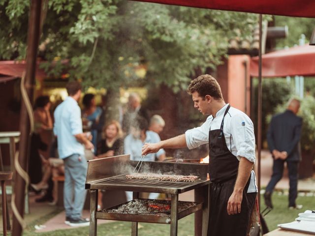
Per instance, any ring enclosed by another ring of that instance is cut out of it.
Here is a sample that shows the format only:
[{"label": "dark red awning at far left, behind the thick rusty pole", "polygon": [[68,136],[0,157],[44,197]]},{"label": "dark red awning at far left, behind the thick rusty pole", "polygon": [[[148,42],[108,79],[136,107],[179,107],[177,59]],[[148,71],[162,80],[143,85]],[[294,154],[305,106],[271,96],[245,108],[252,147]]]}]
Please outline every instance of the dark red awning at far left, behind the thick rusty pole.
[{"label": "dark red awning at far left, behind the thick rusty pole", "polygon": [[[39,68],[39,63],[36,65],[36,79],[43,80],[46,73],[43,69]],[[22,77],[23,71],[25,70],[25,61],[14,61],[14,60],[4,60],[0,61],[0,74]]]}]

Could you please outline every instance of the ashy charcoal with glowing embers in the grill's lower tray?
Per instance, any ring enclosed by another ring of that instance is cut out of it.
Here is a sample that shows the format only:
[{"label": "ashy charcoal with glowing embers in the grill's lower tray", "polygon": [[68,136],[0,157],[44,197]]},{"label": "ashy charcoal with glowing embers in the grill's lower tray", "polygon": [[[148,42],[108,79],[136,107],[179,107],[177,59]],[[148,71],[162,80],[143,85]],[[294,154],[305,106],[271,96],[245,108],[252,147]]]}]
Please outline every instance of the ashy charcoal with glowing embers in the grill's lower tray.
[{"label": "ashy charcoal with glowing embers in the grill's lower tray", "polygon": [[[141,200],[135,199],[125,204],[122,204],[116,208],[102,209],[102,212],[107,213],[119,213],[119,214],[152,214],[162,213],[170,214],[171,202],[165,200]],[[157,206],[152,207],[152,206]],[[181,212],[190,207],[196,206],[193,202],[178,202],[178,212]]]}]

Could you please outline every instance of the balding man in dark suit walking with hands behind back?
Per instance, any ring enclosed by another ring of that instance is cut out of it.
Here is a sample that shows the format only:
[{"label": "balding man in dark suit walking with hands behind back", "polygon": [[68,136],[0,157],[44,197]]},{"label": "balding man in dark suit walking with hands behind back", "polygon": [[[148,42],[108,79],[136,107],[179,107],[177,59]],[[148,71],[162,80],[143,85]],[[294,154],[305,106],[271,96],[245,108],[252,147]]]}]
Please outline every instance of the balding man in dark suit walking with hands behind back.
[{"label": "balding man in dark suit walking with hands behind back", "polygon": [[274,158],[273,173],[264,194],[265,204],[273,208],[271,194],[283,176],[284,162],[289,173],[289,209],[302,208],[296,205],[298,167],[301,159],[299,141],[301,138],[302,118],[296,116],[300,101],[291,99],[284,113],[275,115],[270,122],[267,141]]}]

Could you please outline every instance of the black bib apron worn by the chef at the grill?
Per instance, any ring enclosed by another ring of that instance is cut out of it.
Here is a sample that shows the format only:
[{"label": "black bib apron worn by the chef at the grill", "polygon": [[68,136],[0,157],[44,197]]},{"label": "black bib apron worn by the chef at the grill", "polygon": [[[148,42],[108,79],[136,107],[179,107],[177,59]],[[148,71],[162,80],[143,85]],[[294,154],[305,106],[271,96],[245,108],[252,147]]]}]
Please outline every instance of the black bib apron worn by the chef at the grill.
[{"label": "black bib apron worn by the chef at the grill", "polygon": [[229,109],[230,105],[224,112],[220,129],[209,130],[209,176],[212,184],[208,236],[246,236],[256,198],[256,193],[247,193],[249,178],[243,191],[241,213],[227,214],[227,202],[234,190],[239,166],[237,157],[226,147],[223,134],[224,117]]}]

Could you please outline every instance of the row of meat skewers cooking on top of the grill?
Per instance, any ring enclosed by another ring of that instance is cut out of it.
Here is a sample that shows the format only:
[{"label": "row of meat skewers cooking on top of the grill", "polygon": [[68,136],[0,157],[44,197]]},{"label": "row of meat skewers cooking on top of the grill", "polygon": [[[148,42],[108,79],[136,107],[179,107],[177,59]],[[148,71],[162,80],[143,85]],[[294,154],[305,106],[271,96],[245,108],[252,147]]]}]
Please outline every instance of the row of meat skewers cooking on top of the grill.
[{"label": "row of meat skewers cooking on top of the grill", "polygon": [[154,173],[133,173],[126,175],[126,179],[145,179],[145,180],[159,180],[171,182],[194,182],[199,178],[197,176],[181,176],[181,175],[162,175]]}]

